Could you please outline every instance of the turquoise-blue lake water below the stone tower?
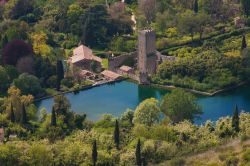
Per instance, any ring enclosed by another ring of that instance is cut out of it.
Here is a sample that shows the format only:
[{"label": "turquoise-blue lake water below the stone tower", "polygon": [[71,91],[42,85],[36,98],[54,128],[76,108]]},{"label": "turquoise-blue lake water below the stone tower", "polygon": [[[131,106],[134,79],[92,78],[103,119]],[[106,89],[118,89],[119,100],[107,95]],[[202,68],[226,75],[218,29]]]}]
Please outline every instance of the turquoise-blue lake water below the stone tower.
[{"label": "turquoise-blue lake water below the stone tower", "polygon": [[[215,121],[220,117],[232,115],[233,107],[238,104],[241,110],[250,112],[250,85],[213,96],[198,97],[198,103],[202,106],[203,115],[196,123],[206,120]],[[132,82],[122,81],[109,85],[102,85],[78,94],[69,93],[65,96],[69,99],[72,110],[77,113],[86,113],[88,119],[98,120],[102,114],[120,116],[127,108],[135,109],[146,98],[160,99],[168,90],[137,85]],[[53,105],[53,99],[45,99],[36,103],[38,108],[46,108],[49,112]]]}]

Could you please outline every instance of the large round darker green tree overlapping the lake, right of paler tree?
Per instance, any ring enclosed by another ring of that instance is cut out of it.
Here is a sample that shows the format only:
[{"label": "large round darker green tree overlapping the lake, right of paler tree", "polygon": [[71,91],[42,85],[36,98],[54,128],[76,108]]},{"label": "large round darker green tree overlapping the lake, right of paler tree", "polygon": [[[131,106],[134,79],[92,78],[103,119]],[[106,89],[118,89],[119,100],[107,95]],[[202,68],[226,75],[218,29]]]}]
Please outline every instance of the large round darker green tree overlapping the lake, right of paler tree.
[{"label": "large round darker green tree overlapping the lake, right of paler tree", "polygon": [[201,107],[196,102],[196,97],[181,89],[175,89],[164,96],[161,110],[174,123],[183,120],[193,121],[202,114]]}]

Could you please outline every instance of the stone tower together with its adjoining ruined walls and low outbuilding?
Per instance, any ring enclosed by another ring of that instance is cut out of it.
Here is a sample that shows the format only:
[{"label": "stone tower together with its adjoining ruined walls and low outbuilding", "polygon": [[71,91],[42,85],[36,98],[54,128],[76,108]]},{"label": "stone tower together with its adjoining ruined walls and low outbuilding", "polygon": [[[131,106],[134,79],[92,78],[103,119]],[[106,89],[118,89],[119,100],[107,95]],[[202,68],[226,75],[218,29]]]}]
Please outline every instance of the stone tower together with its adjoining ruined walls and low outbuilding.
[{"label": "stone tower together with its adjoining ruined walls and low outbuilding", "polygon": [[[133,65],[125,62],[133,61]],[[156,50],[156,34],[153,30],[139,31],[137,51],[117,57],[109,57],[109,70],[149,84],[149,76],[156,73],[158,65],[164,60],[174,61],[175,58],[166,57]]]}]

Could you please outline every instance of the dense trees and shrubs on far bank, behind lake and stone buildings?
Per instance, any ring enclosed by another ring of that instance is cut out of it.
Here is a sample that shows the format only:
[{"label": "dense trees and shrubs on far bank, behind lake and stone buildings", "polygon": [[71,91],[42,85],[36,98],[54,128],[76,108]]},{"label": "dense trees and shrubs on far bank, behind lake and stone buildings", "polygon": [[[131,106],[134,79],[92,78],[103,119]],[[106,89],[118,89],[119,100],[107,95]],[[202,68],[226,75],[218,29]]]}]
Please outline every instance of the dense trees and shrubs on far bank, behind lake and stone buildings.
[{"label": "dense trees and shrubs on far bank, behind lake and stone buildings", "polygon": [[[89,85],[72,76],[58,79],[58,61],[83,43],[106,64],[112,52],[117,55],[135,50],[137,30],[149,27],[157,33],[158,50],[177,57],[174,62],[164,62],[152,82],[209,92],[237,85],[249,78],[250,71],[249,51],[245,50],[249,38],[248,3],[9,0],[0,6],[0,78],[8,78],[0,85],[1,95],[6,95],[14,79],[29,78],[20,78],[22,73],[38,78],[34,81],[42,90],[32,85],[28,88],[35,97]],[[234,24],[236,16],[245,27]]]}]

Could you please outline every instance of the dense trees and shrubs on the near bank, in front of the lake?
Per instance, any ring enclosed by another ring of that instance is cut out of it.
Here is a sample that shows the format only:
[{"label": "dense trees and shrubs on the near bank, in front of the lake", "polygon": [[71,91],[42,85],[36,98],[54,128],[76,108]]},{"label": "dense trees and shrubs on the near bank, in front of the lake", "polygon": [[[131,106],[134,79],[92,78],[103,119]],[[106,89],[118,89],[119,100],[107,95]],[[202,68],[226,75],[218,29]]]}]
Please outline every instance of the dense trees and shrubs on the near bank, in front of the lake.
[{"label": "dense trees and shrubs on the near bank, in front of the lake", "polygon": [[[3,166],[182,165],[184,156],[190,153],[250,137],[250,114],[239,114],[238,107],[232,118],[207,121],[201,126],[192,124],[202,111],[195,97],[183,90],[174,90],[162,101],[146,99],[121,117],[106,114],[96,122],[74,113],[62,95],[54,98],[51,113],[42,109],[37,114],[33,97],[11,87],[1,105],[0,125],[6,138],[0,145]],[[249,151],[242,153],[234,160],[249,164]],[[221,162],[231,158],[224,155]]]}]

